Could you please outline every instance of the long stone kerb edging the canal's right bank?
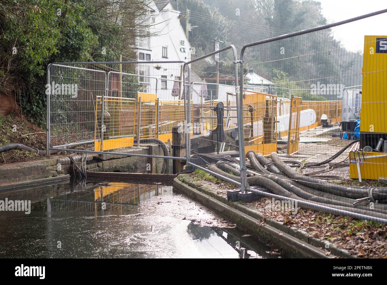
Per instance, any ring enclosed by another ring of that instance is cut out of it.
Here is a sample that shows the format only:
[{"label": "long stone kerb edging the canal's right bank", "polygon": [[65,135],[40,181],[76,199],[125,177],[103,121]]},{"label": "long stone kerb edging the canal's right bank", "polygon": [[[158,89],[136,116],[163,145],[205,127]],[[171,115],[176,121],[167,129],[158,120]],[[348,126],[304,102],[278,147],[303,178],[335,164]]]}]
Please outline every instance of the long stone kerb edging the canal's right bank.
[{"label": "long stone kerb edging the canal's right bank", "polygon": [[259,212],[240,204],[228,201],[226,196],[219,195],[189,179],[188,175],[180,174],[173,180],[173,187],[186,195],[198,200],[204,206],[218,212],[235,222],[238,226],[251,231],[260,238],[265,238],[276,244],[276,246],[288,252],[300,252],[301,257],[332,258],[334,256],[344,258],[357,258],[345,249],[337,247],[329,242],[329,252],[327,256],[324,250],[327,241],[311,237],[306,231],[295,227],[283,225],[270,218],[264,218]]}]

